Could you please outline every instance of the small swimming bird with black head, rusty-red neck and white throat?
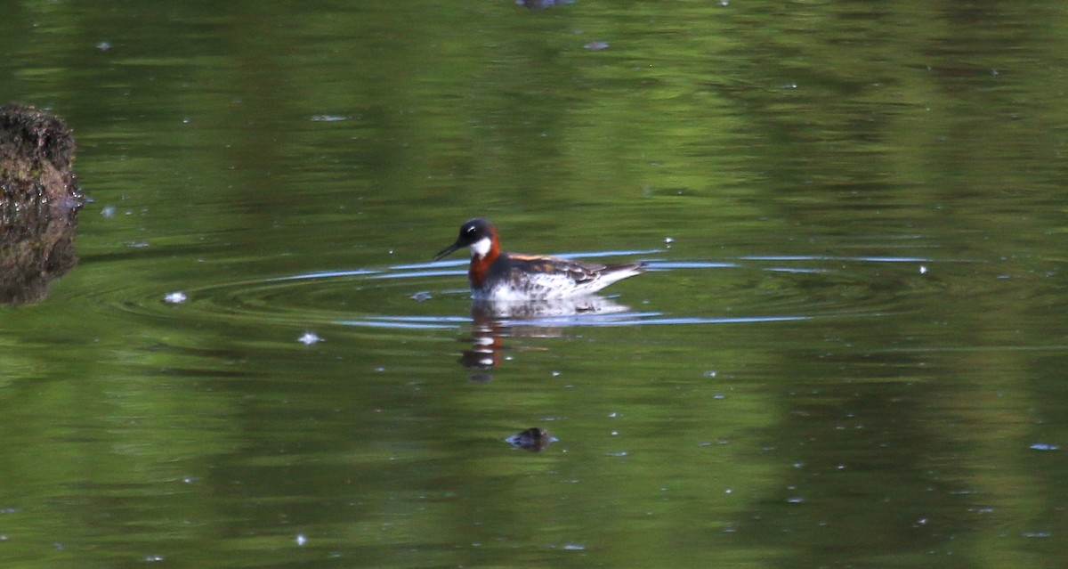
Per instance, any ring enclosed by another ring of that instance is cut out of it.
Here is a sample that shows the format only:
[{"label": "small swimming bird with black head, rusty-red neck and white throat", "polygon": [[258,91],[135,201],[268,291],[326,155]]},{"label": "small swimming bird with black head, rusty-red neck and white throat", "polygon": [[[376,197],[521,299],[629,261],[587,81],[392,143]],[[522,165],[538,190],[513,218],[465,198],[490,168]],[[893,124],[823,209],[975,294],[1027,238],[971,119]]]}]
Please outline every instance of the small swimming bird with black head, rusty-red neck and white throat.
[{"label": "small swimming bird with black head, rusty-red neck and white throat", "polygon": [[471,248],[468,279],[476,301],[543,301],[594,293],[609,284],[642,273],[642,263],[602,265],[555,257],[504,252],[497,230],[477,217],[460,226],[456,243],[434,257]]}]

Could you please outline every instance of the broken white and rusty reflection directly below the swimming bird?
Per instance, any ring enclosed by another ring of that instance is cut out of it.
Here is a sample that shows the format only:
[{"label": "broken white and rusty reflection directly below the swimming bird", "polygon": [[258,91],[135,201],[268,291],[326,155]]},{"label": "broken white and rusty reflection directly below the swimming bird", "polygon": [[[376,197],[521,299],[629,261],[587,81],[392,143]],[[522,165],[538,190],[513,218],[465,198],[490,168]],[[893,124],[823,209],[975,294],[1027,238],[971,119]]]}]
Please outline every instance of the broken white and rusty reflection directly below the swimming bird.
[{"label": "broken white and rusty reflection directly below the swimming bird", "polygon": [[577,319],[626,312],[630,307],[601,296],[580,296],[531,302],[475,301],[471,304],[471,349],[460,364],[474,382],[492,381],[487,373],[501,365],[504,338],[556,338]]}]

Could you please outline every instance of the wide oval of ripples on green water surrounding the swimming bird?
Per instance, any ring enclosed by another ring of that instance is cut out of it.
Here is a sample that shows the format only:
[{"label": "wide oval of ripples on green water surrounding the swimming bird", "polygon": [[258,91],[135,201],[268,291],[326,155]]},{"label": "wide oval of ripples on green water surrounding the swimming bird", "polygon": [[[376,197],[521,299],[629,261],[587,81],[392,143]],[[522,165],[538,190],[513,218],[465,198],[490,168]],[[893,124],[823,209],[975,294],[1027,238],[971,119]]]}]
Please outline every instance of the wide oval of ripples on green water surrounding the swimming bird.
[{"label": "wide oval of ripples on green water surrounding the swimming bird", "polygon": [[[617,257],[664,253],[661,249],[563,253]],[[819,266],[833,261],[834,267]],[[628,282],[626,296],[598,298],[596,306],[520,305],[478,312],[462,288],[466,260],[315,271],[155,291],[98,291],[105,305],[157,320],[264,323],[307,327],[454,329],[472,318],[509,327],[691,326],[797,322],[885,313],[920,273],[871,277],[842,263],[931,263],[912,257],[760,256],[732,260],[646,259],[650,272]],[[203,277],[200,277],[203,278]],[[449,288],[442,288],[446,284]],[[136,294],[120,298],[120,294]],[[175,302],[180,298],[180,302]],[[633,310],[627,305],[655,307]]]}]

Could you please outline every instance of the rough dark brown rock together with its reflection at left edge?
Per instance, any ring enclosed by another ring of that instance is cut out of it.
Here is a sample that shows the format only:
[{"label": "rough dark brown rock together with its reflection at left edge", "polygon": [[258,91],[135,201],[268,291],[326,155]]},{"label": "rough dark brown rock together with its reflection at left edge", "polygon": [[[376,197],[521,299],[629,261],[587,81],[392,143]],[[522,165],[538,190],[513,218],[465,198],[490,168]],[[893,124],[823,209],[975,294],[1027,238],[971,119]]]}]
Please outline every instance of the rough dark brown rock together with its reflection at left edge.
[{"label": "rough dark brown rock together with its reflection at left edge", "polygon": [[78,210],[75,141],[54,114],[0,107],[0,303],[43,299],[70,270]]}]

